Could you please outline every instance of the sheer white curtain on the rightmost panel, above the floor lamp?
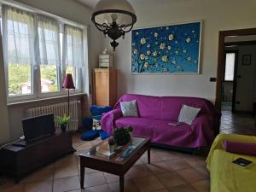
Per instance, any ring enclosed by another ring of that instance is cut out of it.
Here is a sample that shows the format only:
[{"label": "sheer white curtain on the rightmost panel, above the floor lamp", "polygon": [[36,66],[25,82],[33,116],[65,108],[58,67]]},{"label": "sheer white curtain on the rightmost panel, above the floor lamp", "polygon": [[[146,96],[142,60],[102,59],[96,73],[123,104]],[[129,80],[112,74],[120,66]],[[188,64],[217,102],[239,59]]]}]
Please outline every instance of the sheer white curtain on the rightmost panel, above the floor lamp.
[{"label": "sheer white curtain on the rightmost panel, above the floor lamp", "polygon": [[74,26],[64,26],[63,67],[84,67],[83,30]]}]

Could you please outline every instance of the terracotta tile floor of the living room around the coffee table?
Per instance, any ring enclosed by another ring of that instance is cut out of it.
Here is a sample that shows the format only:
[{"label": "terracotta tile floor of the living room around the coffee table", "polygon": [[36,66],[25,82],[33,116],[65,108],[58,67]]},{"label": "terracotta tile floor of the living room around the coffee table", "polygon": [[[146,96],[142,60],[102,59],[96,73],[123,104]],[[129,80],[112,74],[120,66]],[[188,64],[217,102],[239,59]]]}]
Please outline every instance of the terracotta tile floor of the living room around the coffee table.
[{"label": "terracotta tile floor of the living room around the coffee table", "polygon": [[[15,184],[12,178],[0,177],[1,192],[118,192],[119,177],[85,169],[85,189],[79,188],[78,154],[100,142],[83,142],[79,135],[73,136],[77,149],[56,160],[49,166],[33,172]],[[209,173],[205,157],[184,154],[172,150],[152,148],[151,164],[147,155],[125,175],[125,192],[201,192],[209,191]]]}]

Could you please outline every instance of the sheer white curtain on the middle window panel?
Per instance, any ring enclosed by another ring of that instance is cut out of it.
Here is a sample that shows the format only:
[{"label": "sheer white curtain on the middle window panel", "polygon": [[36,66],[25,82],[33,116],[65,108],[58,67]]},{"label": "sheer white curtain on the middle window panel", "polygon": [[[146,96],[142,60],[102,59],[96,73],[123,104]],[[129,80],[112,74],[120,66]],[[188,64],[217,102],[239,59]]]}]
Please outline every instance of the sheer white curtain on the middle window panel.
[{"label": "sheer white curtain on the middle window panel", "polygon": [[60,26],[50,18],[38,16],[39,64],[59,66]]}]

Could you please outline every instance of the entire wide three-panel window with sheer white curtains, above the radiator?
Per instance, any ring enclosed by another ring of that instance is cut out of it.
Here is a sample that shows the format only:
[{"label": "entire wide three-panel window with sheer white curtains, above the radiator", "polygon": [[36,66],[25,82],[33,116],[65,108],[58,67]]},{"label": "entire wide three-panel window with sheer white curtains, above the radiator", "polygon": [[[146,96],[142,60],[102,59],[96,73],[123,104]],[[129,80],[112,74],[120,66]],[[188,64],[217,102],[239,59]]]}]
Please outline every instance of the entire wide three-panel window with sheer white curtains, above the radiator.
[{"label": "entire wide three-panel window with sheer white curtains, above the radiator", "polygon": [[61,95],[66,73],[77,91],[84,65],[83,30],[45,15],[2,6],[8,99]]}]

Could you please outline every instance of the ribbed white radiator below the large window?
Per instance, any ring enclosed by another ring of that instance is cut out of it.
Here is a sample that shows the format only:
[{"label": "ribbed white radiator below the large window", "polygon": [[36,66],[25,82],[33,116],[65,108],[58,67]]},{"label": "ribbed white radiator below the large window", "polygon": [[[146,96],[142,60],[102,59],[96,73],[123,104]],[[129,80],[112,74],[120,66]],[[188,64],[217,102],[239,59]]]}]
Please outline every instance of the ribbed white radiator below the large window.
[{"label": "ribbed white radiator below the large window", "polygon": [[[79,128],[78,105],[79,101],[69,102],[69,116],[72,119],[72,121],[69,124],[69,131],[77,131]],[[54,113],[55,117],[62,116],[64,113],[67,114],[67,102],[61,102],[38,108],[28,108],[26,111],[28,118],[49,113]]]}]

